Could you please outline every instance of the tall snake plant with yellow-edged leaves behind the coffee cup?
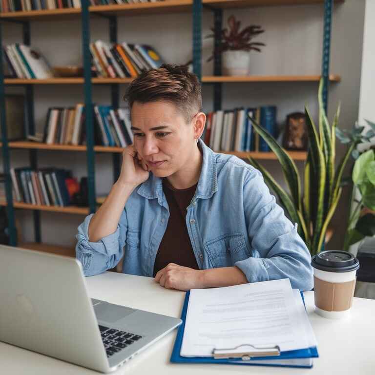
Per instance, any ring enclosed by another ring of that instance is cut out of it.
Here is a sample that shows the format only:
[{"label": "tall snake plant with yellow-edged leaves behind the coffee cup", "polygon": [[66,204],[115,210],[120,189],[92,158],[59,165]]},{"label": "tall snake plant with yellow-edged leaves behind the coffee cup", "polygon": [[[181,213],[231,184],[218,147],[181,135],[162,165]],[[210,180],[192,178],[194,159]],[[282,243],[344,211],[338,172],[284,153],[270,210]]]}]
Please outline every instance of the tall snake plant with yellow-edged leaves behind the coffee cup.
[{"label": "tall snake plant with yellow-edged leaves behind the coffee cup", "polygon": [[[309,150],[304,168],[304,187],[297,167],[288,153],[277,144],[276,140],[252,118],[254,130],[267,142],[276,154],[290,192],[285,191],[264,167],[249,157],[250,164],[259,169],[267,183],[279,198],[280,205],[293,223],[298,224],[298,233],[314,255],[324,247],[328,225],[341,196],[341,182],[345,165],[355,146],[368,137],[362,136],[361,129],[354,129],[348,140],[347,150],[335,168],[335,138],[340,133],[337,128],[340,113],[338,105],[332,125],[329,124],[322,101],[323,80],[318,91],[319,126],[315,127],[308,108],[305,106],[308,130]],[[342,132],[341,132],[342,133]]]}]

